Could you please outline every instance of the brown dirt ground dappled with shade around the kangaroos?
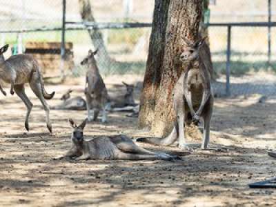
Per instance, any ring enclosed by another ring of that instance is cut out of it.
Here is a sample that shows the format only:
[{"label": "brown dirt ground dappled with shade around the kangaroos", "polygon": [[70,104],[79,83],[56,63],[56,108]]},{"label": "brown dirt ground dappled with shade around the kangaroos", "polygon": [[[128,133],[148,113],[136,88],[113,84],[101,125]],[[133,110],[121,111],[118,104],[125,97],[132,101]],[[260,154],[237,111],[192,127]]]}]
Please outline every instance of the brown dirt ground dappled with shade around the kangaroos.
[{"label": "brown dirt ground dappled with shade around the kangaroos", "polygon": [[[109,77],[108,88],[124,79]],[[56,90],[54,106],[68,88],[83,95],[83,79]],[[113,88],[114,89],[114,88]],[[8,88],[6,88],[8,92]],[[138,90],[137,90],[138,91]],[[221,151],[195,150],[181,161],[66,161],[53,160],[70,148],[68,118],[80,123],[85,111],[50,112],[54,135],[48,135],[44,112],[30,89],[34,103],[30,132],[23,127],[26,108],[15,95],[0,95],[0,206],[275,206],[276,191],[250,189],[248,184],[275,177],[276,160],[266,150],[276,148],[276,97],[259,103],[259,95],[215,99],[211,146]],[[138,97],[138,92],[136,94]],[[113,112],[108,124],[86,126],[86,139],[124,133],[144,137],[137,118]],[[152,150],[179,153],[172,146]],[[225,150],[225,148],[227,150]]]}]

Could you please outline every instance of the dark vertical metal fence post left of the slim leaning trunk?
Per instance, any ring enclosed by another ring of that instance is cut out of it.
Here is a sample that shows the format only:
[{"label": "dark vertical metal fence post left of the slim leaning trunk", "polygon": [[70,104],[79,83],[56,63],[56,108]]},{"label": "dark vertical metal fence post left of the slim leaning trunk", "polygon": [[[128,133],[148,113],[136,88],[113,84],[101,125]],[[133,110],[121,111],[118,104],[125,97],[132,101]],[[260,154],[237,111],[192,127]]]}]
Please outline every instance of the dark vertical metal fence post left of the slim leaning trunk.
[{"label": "dark vertical metal fence post left of the slim leaning trunk", "polygon": [[61,31],[61,65],[60,65],[60,77],[61,81],[64,80],[64,61],[66,59],[66,48],[65,48],[65,28],[66,24],[66,0],[62,3],[62,31]]}]

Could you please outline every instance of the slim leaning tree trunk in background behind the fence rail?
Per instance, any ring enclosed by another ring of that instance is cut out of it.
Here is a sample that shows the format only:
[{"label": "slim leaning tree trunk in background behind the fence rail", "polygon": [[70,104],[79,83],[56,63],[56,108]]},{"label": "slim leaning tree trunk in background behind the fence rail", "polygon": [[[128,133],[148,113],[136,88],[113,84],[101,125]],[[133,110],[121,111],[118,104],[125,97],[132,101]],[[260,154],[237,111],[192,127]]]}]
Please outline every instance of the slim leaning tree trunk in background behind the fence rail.
[{"label": "slim leaning tree trunk in background behind the fence rail", "polygon": [[[89,0],[79,0],[79,13],[81,14],[82,21],[96,22]],[[108,70],[110,68],[111,58],[104,44],[103,35],[98,29],[88,30],[88,32],[94,48],[99,50],[99,67]]]}]

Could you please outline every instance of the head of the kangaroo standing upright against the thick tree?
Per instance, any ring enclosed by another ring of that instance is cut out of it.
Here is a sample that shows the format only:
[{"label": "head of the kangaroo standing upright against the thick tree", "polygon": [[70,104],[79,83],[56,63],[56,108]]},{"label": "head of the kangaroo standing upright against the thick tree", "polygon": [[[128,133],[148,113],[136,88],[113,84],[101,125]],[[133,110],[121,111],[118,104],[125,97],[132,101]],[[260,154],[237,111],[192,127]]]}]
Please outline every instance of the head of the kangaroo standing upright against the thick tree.
[{"label": "head of the kangaroo standing upright against the thick tree", "polygon": [[184,39],[186,46],[181,50],[180,60],[182,62],[195,61],[199,58],[199,48],[204,43],[206,37],[198,39],[197,41],[190,41],[190,39]]}]

